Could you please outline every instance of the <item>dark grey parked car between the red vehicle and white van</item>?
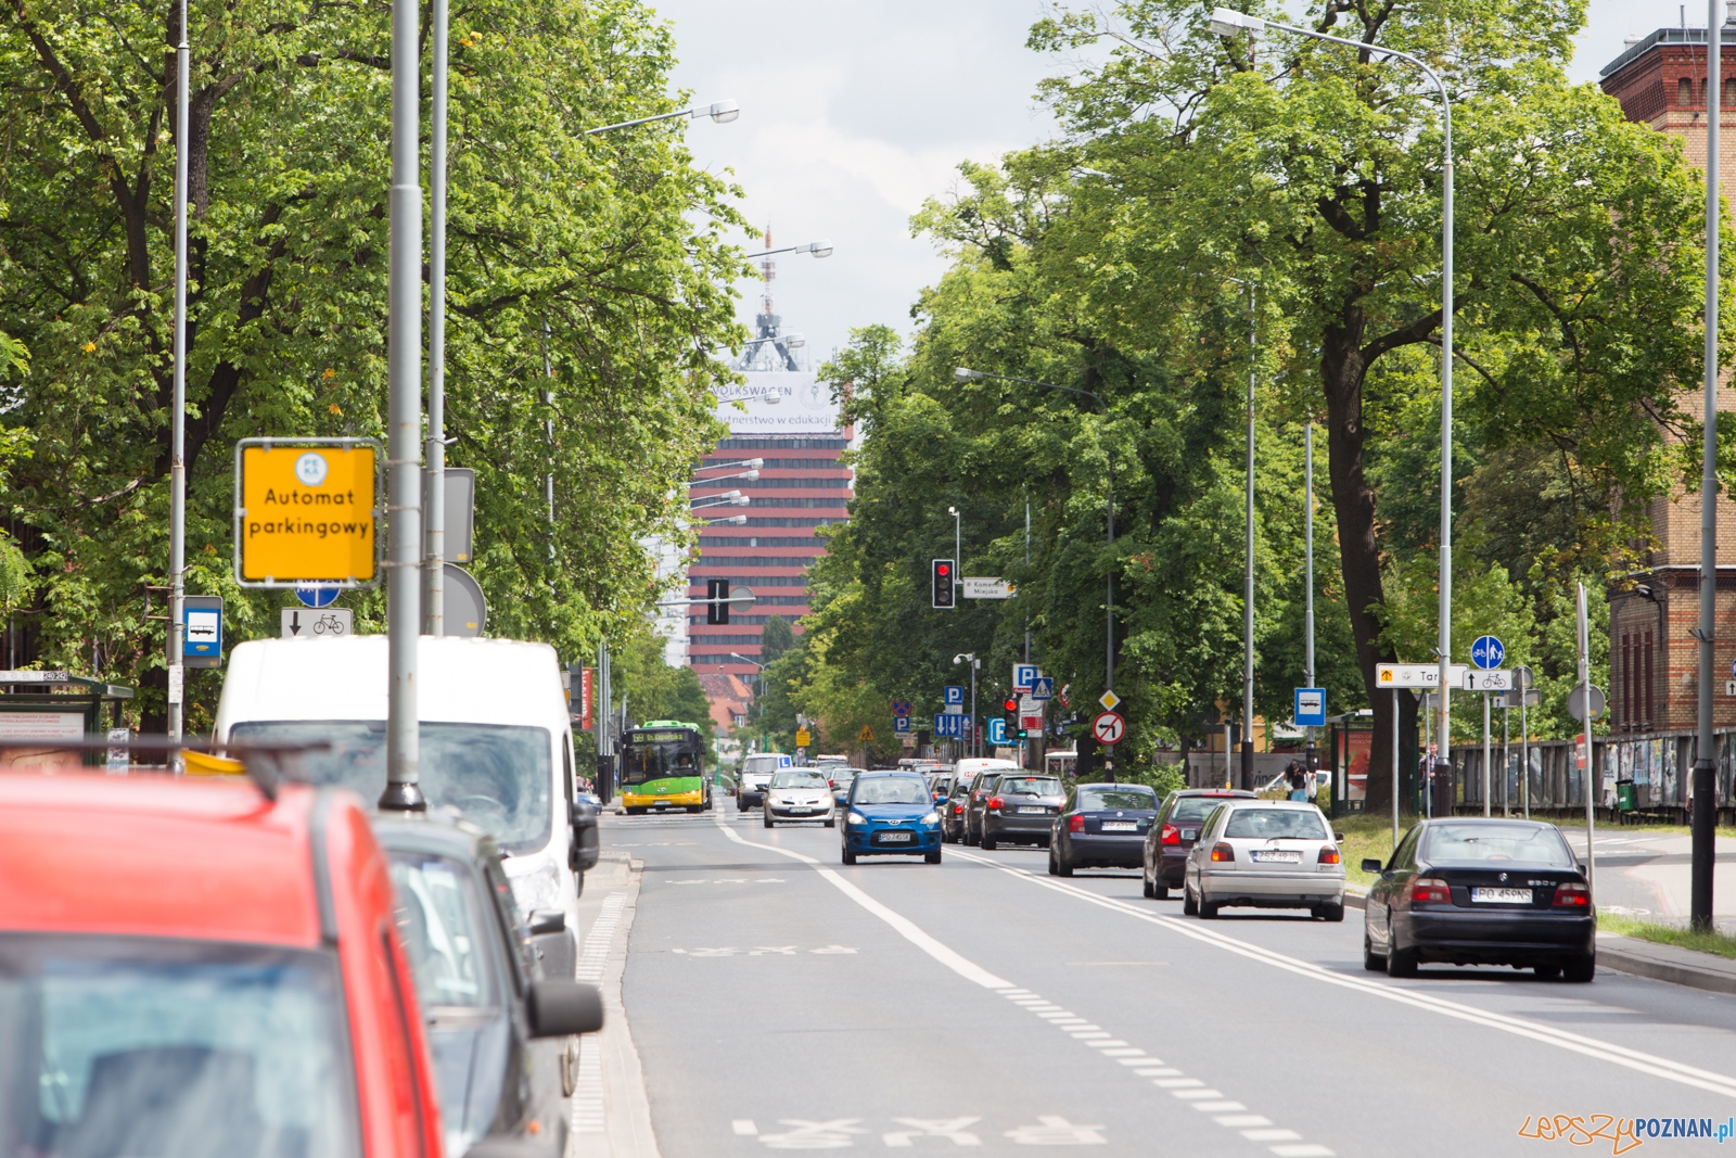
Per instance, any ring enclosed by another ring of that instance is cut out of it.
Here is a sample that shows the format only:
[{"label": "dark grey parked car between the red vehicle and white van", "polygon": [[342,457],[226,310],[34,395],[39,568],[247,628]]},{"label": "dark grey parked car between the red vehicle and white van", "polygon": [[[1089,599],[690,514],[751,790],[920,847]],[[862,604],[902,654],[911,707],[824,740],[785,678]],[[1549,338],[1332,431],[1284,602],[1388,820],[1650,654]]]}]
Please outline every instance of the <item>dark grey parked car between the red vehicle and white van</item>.
[{"label": "dark grey parked car between the red vehicle and white van", "polygon": [[538,997],[594,1002],[602,1024],[595,988],[573,981],[576,941],[566,915],[550,908],[521,925],[493,839],[451,811],[382,813],[373,832],[427,1017],[446,1153],[483,1142],[559,1158],[578,1036],[533,1031],[531,986]]}]

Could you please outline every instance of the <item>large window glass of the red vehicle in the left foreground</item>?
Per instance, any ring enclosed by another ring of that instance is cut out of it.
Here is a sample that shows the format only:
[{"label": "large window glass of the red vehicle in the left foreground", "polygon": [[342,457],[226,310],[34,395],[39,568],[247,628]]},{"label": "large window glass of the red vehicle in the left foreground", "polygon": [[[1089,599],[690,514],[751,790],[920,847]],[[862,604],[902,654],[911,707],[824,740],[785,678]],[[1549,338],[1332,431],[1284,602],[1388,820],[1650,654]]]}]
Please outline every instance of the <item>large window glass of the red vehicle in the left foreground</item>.
[{"label": "large window glass of the red vehicle in the left foreground", "polygon": [[358,1158],[328,953],[0,934],[0,1153]]}]

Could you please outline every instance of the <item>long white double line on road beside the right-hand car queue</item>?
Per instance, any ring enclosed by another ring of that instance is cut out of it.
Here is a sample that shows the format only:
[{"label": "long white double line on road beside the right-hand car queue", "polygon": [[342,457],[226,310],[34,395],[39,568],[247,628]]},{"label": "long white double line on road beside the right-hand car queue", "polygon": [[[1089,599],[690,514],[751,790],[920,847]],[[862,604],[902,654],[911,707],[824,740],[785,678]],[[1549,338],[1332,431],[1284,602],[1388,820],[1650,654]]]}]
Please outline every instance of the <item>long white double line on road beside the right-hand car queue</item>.
[{"label": "long white double line on road beside the right-hand car queue", "polygon": [[1689,1066],[1686,1063],[1672,1061],[1668,1057],[1658,1057],[1656,1054],[1646,1054],[1642,1050],[1628,1049],[1625,1045],[1616,1045],[1614,1042],[1602,1042],[1599,1038],[1583,1036],[1580,1033],[1571,1033],[1568,1030],[1555,1030],[1542,1023],[1526,1021],[1522,1017],[1510,1017],[1507,1014],[1496,1014],[1474,1005],[1462,1005],[1460,1002],[1451,1002],[1448,998],[1432,997],[1427,993],[1418,993],[1415,990],[1404,990],[1391,984],[1378,984],[1375,981],[1364,981],[1361,977],[1345,977],[1335,974],[1323,965],[1314,965],[1311,962],[1278,953],[1276,950],[1267,950],[1264,946],[1253,944],[1250,941],[1240,941],[1222,932],[1198,929],[1177,917],[1165,917],[1158,913],[1141,911],[1139,906],[1128,905],[1127,901],[1116,901],[1115,898],[1099,896],[1088,889],[1080,889],[1078,885],[1062,884],[1059,880],[1047,880],[1023,868],[1014,868],[1000,861],[993,861],[986,856],[972,856],[970,852],[953,852],[962,859],[972,861],[976,865],[986,865],[998,872],[1009,873],[1029,884],[1054,889],[1055,892],[1073,896],[1076,899],[1097,905],[1099,908],[1108,908],[1111,911],[1125,913],[1137,920],[1179,932],[1184,938],[1193,938],[1205,944],[1212,944],[1220,950],[1227,950],[1240,957],[1257,960],[1260,964],[1271,965],[1274,969],[1283,969],[1314,981],[1323,981],[1326,984],[1337,984],[1345,990],[1356,990],[1361,993],[1370,993],[1373,997],[1385,998],[1389,1002],[1397,1002],[1399,1005],[1411,1005],[1415,1009],[1424,1009],[1443,1017],[1455,1017],[1458,1021],[1469,1021],[1472,1024],[1481,1024],[1489,1030],[1500,1030],[1503,1033],[1512,1033],[1514,1036],[1531,1038],[1533,1042],[1542,1042],[1545,1045],[1554,1045],[1557,1049],[1569,1050],[1573,1054],[1581,1054],[1585,1057],[1595,1057],[1599,1061],[1608,1061],[1616,1066],[1625,1066],[1639,1073],[1647,1073],[1654,1078],[1665,1078],[1668,1082],[1679,1082],[1682,1085],[1691,1085],[1694,1089],[1708,1090],[1712,1094],[1724,1094],[1727,1097],[1736,1097],[1736,1076],[1713,1073],[1710,1069],[1700,1069],[1698,1066]]}]

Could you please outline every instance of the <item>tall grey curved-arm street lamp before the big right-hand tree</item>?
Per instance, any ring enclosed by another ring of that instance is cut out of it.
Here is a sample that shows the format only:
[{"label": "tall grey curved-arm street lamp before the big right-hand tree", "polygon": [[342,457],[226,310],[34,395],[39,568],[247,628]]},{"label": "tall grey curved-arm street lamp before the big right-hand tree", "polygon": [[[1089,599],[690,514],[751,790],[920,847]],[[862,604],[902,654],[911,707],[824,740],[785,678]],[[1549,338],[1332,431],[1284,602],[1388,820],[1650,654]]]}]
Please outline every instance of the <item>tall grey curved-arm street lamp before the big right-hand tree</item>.
[{"label": "tall grey curved-arm street lamp before the big right-hand tree", "polygon": [[[1717,12],[1717,0],[1706,0],[1710,10]],[[1450,688],[1450,668],[1453,661],[1453,102],[1448,97],[1446,83],[1436,75],[1432,68],[1422,63],[1420,57],[1410,52],[1399,52],[1397,49],[1387,49],[1377,43],[1368,43],[1364,40],[1347,40],[1344,36],[1328,36],[1326,33],[1318,33],[1311,28],[1297,28],[1295,24],[1281,24],[1278,21],[1267,21],[1259,16],[1248,16],[1245,12],[1236,12],[1234,9],[1213,9],[1212,31],[1220,36],[1234,36],[1238,33],[1250,33],[1259,36],[1266,28],[1278,28],[1286,33],[1295,33],[1299,36],[1309,36],[1312,40],[1325,40],[1328,43],[1345,45],[1349,49],[1361,49],[1366,52],[1378,52],[1380,56],[1397,57],[1410,64],[1415,64],[1422,73],[1434,83],[1436,90],[1441,94],[1441,127],[1443,127],[1443,160],[1441,160],[1441,556],[1439,563],[1439,628],[1436,641],[1436,660],[1441,670],[1441,717],[1436,734],[1441,741],[1441,757],[1451,760],[1448,748],[1451,747],[1451,731],[1448,720],[1451,715],[1451,694]],[[1717,80],[1712,82],[1717,87]],[[1713,101],[1712,109],[1715,116],[1717,97],[1708,97]],[[1710,125],[1712,139],[1717,141],[1717,125]],[[1708,161],[1706,174],[1715,174],[1717,167]],[[1708,189],[1715,189],[1715,177],[1708,177]],[[1715,193],[1708,194],[1708,198]],[[1715,214],[1715,208],[1708,208],[1708,214]],[[1717,231],[1710,231],[1710,236],[1717,236]],[[1712,266],[1708,266],[1712,269]],[[1710,274],[1708,274],[1710,285]],[[1708,288],[1708,293],[1715,290]],[[1708,314],[1710,318],[1712,314]],[[1708,335],[1713,326],[1706,326]],[[1708,340],[1713,342],[1712,337]],[[1708,372],[1713,375],[1713,382],[1708,391],[1717,389],[1715,370]],[[1710,413],[1710,411],[1708,411]],[[1710,656],[1710,646],[1703,653]],[[1708,660],[1701,665],[1710,672]],[[1706,679],[1701,679],[1706,686]],[[1705,696],[1705,691],[1701,691]],[[1397,715],[1392,719],[1394,734],[1397,734]],[[1701,752],[1706,748],[1703,747]],[[1397,797],[1399,792],[1399,766],[1397,760],[1392,762],[1392,795]]]}]

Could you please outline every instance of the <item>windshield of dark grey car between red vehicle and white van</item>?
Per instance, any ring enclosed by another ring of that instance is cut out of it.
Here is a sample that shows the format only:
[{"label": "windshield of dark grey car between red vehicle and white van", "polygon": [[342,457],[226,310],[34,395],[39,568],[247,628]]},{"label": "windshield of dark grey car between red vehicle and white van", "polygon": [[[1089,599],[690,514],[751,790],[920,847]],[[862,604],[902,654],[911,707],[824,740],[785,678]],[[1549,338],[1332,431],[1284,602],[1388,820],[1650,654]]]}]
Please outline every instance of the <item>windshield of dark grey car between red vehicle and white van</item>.
[{"label": "windshield of dark grey car between red vehicle and white van", "polygon": [[398,931],[424,1009],[491,1005],[488,927],[470,872],[458,861],[392,851]]}]

